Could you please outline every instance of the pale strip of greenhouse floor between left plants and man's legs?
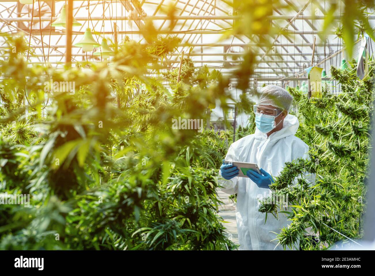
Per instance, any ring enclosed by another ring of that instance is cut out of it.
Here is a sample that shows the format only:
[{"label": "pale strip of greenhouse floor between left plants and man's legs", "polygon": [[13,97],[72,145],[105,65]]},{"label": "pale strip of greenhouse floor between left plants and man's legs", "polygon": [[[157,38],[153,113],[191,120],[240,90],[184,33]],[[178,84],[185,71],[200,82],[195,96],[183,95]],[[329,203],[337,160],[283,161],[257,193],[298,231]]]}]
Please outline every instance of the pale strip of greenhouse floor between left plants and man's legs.
[{"label": "pale strip of greenhouse floor between left plants and man's legs", "polygon": [[224,203],[219,207],[219,216],[228,223],[223,223],[224,227],[228,231],[229,238],[238,245],[238,233],[237,233],[237,222],[236,222],[236,205],[228,198],[228,194],[218,190],[217,195]]}]

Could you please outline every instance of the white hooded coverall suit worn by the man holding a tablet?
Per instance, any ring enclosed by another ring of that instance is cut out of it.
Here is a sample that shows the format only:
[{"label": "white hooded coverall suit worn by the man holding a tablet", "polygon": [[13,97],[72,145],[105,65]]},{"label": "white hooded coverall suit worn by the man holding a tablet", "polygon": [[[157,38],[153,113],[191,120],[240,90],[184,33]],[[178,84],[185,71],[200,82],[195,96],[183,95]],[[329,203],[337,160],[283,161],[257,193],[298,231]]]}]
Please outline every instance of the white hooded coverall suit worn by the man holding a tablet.
[{"label": "white hooded coverall suit worn by the man holding a tablet", "polygon": [[[268,138],[266,133],[256,128],[255,133],[245,136],[230,145],[225,160],[257,163],[259,168],[273,176],[282,171],[285,162],[303,157],[309,158],[308,145],[294,136],[299,127],[296,116],[288,114],[281,130],[272,133]],[[237,193],[236,220],[240,250],[282,250],[278,245],[276,234],[280,228],[287,226],[290,221],[286,214],[279,213],[279,220],[272,214],[258,211],[260,199],[270,195],[271,190],[260,188],[250,178],[233,177],[225,180],[219,173],[221,190],[233,195]],[[312,178],[310,178],[312,179]],[[310,181],[312,182],[312,181]],[[273,240],[271,242],[271,240]],[[299,245],[297,245],[297,249]]]}]

